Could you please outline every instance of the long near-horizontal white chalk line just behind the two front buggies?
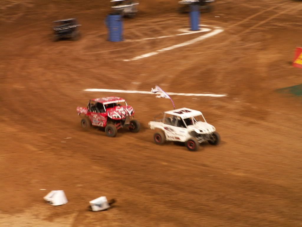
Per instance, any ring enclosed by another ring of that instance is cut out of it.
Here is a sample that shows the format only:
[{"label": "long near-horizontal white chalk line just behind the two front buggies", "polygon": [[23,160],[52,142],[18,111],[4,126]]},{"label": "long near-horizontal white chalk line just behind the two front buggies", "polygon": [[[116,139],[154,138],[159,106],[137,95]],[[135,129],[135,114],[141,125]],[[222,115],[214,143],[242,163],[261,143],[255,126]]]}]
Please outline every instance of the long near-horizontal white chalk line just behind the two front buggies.
[{"label": "long near-horizontal white chalk line just behind the two front buggies", "polygon": [[[142,90],[115,90],[115,89],[98,89],[98,88],[89,88],[84,91],[92,92],[115,92],[115,93],[137,93],[137,94],[154,94],[151,91],[142,91]],[[209,97],[226,97],[226,94],[195,94],[195,93],[174,93],[166,92],[168,95],[182,95],[182,96],[209,96]]]}]

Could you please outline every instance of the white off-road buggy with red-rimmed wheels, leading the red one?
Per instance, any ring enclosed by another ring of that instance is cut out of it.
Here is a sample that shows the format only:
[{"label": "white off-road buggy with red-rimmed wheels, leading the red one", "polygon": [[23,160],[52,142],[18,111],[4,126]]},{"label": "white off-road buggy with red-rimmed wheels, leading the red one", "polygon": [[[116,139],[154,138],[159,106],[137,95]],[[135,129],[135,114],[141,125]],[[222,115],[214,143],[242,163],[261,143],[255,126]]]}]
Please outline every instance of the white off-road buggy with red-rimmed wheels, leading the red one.
[{"label": "white off-road buggy with red-rimmed wheels, leading the red one", "polygon": [[184,142],[188,150],[196,151],[204,141],[211,145],[220,142],[215,127],[207,123],[198,110],[181,108],[162,114],[162,117],[157,115],[154,121],[149,122],[149,128],[156,130],[153,136],[156,144],[163,144],[165,141]]}]

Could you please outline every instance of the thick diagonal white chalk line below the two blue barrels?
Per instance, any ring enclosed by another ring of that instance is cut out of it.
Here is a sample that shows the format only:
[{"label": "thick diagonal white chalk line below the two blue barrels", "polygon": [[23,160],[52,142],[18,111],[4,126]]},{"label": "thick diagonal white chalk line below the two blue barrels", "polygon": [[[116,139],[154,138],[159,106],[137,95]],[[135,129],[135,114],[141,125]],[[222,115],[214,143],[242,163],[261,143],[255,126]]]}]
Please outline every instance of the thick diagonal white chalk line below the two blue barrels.
[{"label": "thick diagonal white chalk line below the two blue barrels", "polygon": [[201,35],[197,38],[194,38],[192,40],[189,40],[189,41],[185,41],[183,43],[180,43],[180,44],[176,44],[176,45],[173,45],[173,46],[170,46],[170,47],[166,47],[166,48],[162,48],[160,50],[157,50],[157,51],[154,51],[154,52],[150,52],[150,53],[147,53],[147,54],[142,54],[140,56],[137,56],[137,57],[134,57],[134,58],[130,58],[130,59],[124,59],[124,61],[136,61],[136,60],[139,60],[139,59],[142,59],[142,58],[148,58],[150,56],[153,56],[153,55],[156,55],[156,54],[159,54],[161,52],[165,52],[165,51],[169,51],[169,50],[173,50],[175,48],[179,48],[179,47],[184,47],[184,46],[187,46],[187,45],[190,45],[190,44],[193,44],[193,43],[196,43],[198,41],[201,41],[201,40],[204,40],[206,38],[209,38],[211,36],[214,36],[214,35],[217,35],[219,34],[220,32],[223,32],[224,30],[221,29],[221,28],[216,28],[214,31],[211,31],[205,35]]}]

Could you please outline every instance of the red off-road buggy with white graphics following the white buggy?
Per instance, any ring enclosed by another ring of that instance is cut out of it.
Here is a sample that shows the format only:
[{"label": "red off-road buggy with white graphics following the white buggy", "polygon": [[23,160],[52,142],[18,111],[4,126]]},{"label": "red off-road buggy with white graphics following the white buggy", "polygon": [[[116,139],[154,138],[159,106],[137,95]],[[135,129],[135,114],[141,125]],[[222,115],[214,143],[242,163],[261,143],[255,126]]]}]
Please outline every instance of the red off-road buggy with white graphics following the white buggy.
[{"label": "red off-road buggy with white graphics following the white buggy", "polygon": [[77,107],[76,112],[82,117],[82,128],[88,130],[91,126],[104,127],[108,137],[115,137],[117,130],[123,127],[129,127],[133,133],[140,130],[140,123],[133,119],[133,108],[119,97],[91,99],[87,108]]}]

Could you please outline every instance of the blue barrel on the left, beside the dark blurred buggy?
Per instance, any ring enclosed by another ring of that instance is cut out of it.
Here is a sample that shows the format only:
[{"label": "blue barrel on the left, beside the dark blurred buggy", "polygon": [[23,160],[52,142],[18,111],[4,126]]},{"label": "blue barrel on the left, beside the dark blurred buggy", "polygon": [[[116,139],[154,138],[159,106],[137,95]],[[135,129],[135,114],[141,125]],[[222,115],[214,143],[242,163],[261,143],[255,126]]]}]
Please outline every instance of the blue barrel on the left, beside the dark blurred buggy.
[{"label": "blue barrel on the left, beside the dark blurred buggy", "polygon": [[123,40],[123,19],[119,14],[110,14],[106,17],[108,27],[108,40],[120,42]]}]

